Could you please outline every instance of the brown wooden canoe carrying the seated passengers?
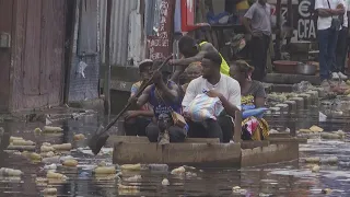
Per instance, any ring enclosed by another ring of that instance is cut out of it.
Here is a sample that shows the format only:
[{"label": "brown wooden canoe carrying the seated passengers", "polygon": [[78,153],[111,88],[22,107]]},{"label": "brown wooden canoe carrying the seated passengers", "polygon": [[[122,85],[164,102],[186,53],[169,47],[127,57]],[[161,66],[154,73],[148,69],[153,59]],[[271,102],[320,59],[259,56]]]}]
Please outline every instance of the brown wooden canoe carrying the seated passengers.
[{"label": "brown wooden canoe carrying the seated passengers", "polygon": [[166,163],[170,165],[243,167],[299,159],[296,138],[220,143],[219,139],[188,138],[183,143],[160,146],[147,137],[110,136],[115,164]]}]

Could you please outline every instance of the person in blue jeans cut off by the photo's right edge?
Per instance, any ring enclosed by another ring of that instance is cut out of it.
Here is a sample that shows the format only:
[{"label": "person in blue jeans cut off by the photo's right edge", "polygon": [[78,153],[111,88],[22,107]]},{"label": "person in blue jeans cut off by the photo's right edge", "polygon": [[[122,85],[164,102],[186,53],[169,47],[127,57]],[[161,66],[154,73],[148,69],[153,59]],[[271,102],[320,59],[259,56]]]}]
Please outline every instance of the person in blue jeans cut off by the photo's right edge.
[{"label": "person in blue jeans cut off by the photo's right edge", "polygon": [[350,9],[350,0],[345,0],[345,14],[343,14],[343,23],[341,31],[338,35],[338,42],[337,42],[337,49],[336,49],[336,57],[337,57],[337,67],[332,70],[332,77],[337,78],[339,76],[340,79],[346,80],[348,79],[348,76],[345,73],[345,66],[346,66],[346,59],[348,54],[348,33],[349,33],[349,9]]}]

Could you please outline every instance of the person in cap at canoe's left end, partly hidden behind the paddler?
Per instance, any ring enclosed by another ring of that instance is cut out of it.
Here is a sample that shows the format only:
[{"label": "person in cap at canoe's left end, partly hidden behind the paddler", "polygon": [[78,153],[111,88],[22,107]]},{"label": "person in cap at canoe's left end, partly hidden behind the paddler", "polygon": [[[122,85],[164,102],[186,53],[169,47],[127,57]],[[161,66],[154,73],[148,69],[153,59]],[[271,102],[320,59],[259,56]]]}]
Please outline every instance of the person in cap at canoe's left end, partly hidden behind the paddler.
[{"label": "person in cap at canoe's left end, partly hidden behind the paddler", "polygon": [[[145,59],[139,65],[140,81],[131,86],[130,99],[132,100],[141,85],[150,79],[153,61]],[[137,111],[128,111],[125,114],[124,128],[126,136],[145,136],[145,127],[151,123],[153,117],[152,105],[145,103]]]}]

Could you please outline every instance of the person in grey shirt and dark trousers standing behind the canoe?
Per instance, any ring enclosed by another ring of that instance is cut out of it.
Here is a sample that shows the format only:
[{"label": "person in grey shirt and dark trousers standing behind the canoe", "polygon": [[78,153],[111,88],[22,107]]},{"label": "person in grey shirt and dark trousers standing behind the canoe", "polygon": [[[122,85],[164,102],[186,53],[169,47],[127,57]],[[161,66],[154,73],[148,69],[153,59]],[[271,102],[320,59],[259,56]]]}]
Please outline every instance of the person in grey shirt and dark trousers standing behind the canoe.
[{"label": "person in grey shirt and dark trousers standing behind the canoe", "polygon": [[262,81],[271,37],[271,7],[267,0],[257,0],[245,13],[242,22],[247,31],[246,38],[250,40],[252,65],[255,67],[253,79]]}]

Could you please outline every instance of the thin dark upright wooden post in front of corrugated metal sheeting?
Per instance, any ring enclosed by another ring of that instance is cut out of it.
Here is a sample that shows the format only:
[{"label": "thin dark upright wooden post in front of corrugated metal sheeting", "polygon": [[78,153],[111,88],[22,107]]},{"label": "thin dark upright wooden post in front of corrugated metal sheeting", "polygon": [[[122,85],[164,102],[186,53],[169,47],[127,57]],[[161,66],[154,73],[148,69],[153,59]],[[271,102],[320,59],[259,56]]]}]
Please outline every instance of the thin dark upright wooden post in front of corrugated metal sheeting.
[{"label": "thin dark upright wooden post in front of corrugated metal sheeting", "polygon": [[105,80],[104,80],[104,108],[105,115],[110,115],[110,15],[113,1],[107,0],[107,18],[106,18],[106,45],[105,45]]}]

